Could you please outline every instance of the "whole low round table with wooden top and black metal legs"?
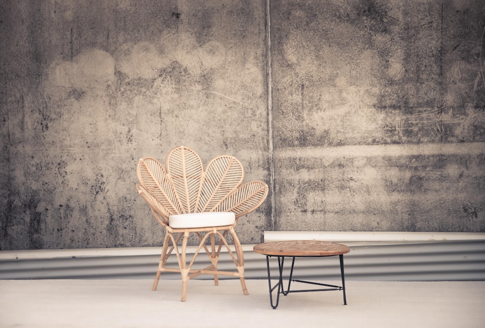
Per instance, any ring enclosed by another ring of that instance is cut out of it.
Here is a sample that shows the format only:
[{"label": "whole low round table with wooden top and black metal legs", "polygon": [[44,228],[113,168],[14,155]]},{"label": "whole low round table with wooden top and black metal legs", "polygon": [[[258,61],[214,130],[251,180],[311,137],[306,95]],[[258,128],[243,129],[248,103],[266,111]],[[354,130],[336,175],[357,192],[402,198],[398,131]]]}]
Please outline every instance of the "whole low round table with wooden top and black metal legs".
[{"label": "whole low round table with wooden top and black metal legs", "polygon": [[[290,240],[290,241],[275,241],[270,243],[262,243],[254,246],[253,251],[259,254],[266,255],[266,265],[268,267],[268,285],[270,289],[270,303],[273,309],[276,309],[279,302],[279,295],[284,296],[289,293],[299,293],[299,292],[320,292],[320,291],[330,291],[330,290],[341,290],[343,292],[343,304],[347,305],[347,298],[345,297],[345,278],[343,273],[343,254],[350,252],[350,249],[346,245],[331,243],[326,241],[316,241],[316,240]],[[311,282],[311,281],[301,281],[293,280],[293,267],[295,264],[296,257],[325,257],[325,256],[336,256],[339,255],[340,258],[340,274],[342,276],[342,286],[328,285],[325,283]],[[271,284],[271,274],[270,274],[270,262],[269,258],[276,256],[278,258],[278,270],[279,270],[279,280],[275,286]],[[284,290],[283,287],[283,265],[285,257],[292,257],[290,279],[288,281],[288,289]],[[308,283],[313,285],[325,286],[329,288],[321,289],[303,289],[303,290],[290,290],[291,281]],[[273,291],[278,287],[278,292],[276,294],[276,304],[273,305]]]}]

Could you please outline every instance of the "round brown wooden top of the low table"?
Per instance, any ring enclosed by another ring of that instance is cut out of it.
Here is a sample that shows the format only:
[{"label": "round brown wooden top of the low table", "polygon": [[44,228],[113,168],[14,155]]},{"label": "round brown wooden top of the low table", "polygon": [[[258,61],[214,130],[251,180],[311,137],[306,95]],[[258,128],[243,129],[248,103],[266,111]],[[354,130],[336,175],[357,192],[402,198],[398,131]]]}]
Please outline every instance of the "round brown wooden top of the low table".
[{"label": "round brown wooden top of the low table", "polygon": [[264,255],[279,256],[332,256],[350,252],[348,246],[316,240],[288,240],[258,244],[253,251]]}]

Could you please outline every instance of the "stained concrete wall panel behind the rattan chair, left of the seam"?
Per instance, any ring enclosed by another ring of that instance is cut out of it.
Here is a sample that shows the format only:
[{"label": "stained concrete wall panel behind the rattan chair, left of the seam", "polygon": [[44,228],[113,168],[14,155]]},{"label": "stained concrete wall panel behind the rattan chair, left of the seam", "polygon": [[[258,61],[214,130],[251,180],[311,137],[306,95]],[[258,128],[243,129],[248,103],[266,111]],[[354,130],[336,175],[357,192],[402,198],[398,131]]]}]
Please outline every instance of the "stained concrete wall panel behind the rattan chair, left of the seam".
[{"label": "stained concrete wall panel behind the rattan chair, left of the seam", "polygon": [[270,180],[264,17],[263,1],[2,1],[1,249],[159,245],[136,163],[177,145]]}]

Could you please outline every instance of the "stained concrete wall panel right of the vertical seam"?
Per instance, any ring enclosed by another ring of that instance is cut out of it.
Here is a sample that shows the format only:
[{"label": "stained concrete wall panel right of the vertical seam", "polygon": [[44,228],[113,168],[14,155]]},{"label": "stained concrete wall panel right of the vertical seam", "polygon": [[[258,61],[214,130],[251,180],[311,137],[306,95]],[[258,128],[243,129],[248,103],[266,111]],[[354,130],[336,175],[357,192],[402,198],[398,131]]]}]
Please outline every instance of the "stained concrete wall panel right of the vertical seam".
[{"label": "stained concrete wall panel right of the vertical seam", "polygon": [[485,231],[484,2],[272,3],[276,230]]}]

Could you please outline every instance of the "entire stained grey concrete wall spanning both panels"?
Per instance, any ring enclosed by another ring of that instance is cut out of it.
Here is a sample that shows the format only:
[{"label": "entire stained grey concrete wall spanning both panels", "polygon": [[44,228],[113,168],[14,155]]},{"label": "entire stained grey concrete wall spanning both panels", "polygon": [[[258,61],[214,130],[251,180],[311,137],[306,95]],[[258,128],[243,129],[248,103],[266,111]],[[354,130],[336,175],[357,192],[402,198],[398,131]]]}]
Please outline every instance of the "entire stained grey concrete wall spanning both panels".
[{"label": "entire stained grey concrete wall spanning both panels", "polygon": [[482,1],[267,5],[3,1],[0,250],[160,245],[135,166],[180,144],[271,185],[243,243],[485,232]]}]

